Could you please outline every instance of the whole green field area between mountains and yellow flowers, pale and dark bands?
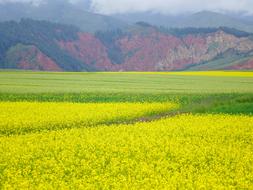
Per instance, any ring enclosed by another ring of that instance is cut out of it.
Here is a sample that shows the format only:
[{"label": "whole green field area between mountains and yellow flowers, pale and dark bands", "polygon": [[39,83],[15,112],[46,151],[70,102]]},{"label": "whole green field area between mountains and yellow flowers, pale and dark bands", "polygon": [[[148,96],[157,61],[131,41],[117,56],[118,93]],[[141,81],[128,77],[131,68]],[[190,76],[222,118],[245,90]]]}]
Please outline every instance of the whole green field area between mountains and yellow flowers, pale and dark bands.
[{"label": "whole green field area between mountains and yellow flowers, pale and dark bands", "polygon": [[0,72],[0,101],[180,102],[190,112],[251,113],[253,72]]}]

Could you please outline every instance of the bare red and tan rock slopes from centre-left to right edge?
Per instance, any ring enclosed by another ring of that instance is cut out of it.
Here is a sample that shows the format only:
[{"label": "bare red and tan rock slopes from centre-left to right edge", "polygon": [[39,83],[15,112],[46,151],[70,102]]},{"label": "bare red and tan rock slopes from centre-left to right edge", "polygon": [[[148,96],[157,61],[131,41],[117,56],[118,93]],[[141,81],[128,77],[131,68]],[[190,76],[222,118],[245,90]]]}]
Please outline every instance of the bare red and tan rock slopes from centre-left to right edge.
[{"label": "bare red and tan rock slopes from centre-left to right edge", "polygon": [[[79,33],[76,41],[58,42],[62,49],[84,63],[99,70],[112,71],[184,70],[212,61],[228,51],[247,56],[253,51],[251,39],[239,38],[222,30],[177,37],[150,28],[145,34],[123,35],[113,43],[118,53],[123,55],[120,64],[113,64],[108,56],[108,47],[91,34]],[[253,64],[251,60],[224,69],[253,69]]]}]

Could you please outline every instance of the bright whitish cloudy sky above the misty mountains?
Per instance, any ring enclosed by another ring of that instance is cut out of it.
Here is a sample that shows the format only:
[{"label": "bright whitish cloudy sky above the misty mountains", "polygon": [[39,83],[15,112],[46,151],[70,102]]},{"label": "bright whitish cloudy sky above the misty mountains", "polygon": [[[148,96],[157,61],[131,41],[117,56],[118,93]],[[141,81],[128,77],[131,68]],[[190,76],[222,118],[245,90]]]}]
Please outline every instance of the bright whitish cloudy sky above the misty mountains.
[{"label": "bright whitish cloudy sky above the misty mountains", "polygon": [[[43,0],[0,0],[0,2],[33,2]],[[52,0],[54,1],[54,0]],[[58,0],[59,1],[59,0]],[[248,12],[253,14],[253,0],[62,0],[91,1],[91,9],[99,13],[127,13],[154,11],[160,13],[185,13],[210,11]]]}]

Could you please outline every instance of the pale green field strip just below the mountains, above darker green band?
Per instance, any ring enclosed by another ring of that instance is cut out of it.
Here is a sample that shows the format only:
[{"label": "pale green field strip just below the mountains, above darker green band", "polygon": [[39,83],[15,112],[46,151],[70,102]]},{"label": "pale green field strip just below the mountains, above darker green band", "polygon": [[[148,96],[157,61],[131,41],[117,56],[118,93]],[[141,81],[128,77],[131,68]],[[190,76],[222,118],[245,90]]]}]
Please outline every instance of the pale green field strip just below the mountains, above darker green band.
[{"label": "pale green field strip just below the mountains, above darker green band", "polygon": [[[187,74],[187,73],[186,73]],[[0,93],[252,93],[253,76],[0,72]],[[226,74],[226,73],[225,73]]]}]

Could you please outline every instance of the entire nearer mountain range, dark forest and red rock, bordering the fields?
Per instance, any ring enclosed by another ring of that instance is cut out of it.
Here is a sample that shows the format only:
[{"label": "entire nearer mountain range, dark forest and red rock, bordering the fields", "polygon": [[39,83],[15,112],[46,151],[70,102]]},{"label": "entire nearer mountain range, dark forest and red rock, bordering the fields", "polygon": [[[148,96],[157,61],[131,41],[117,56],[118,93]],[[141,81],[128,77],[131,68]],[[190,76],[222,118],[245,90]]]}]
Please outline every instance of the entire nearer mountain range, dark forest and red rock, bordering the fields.
[{"label": "entire nearer mountain range, dark forest and red rock, bordering the fields", "polygon": [[47,71],[253,69],[253,36],[236,29],[166,29],[139,22],[95,34],[22,19],[0,23],[0,67]]}]

